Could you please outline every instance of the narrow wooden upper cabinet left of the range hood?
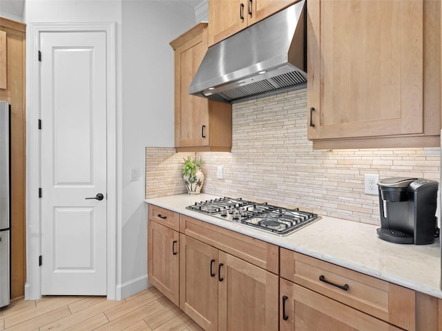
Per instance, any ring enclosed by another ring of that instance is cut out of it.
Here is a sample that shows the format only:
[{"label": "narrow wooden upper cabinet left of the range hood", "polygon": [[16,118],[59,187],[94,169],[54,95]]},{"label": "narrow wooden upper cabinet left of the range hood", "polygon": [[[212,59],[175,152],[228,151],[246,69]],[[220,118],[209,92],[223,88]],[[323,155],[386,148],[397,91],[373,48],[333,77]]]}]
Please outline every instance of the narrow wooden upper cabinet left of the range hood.
[{"label": "narrow wooden upper cabinet left of the range hood", "polygon": [[175,147],[177,152],[230,152],[232,106],[189,94],[207,50],[207,23],[171,41],[175,58]]}]

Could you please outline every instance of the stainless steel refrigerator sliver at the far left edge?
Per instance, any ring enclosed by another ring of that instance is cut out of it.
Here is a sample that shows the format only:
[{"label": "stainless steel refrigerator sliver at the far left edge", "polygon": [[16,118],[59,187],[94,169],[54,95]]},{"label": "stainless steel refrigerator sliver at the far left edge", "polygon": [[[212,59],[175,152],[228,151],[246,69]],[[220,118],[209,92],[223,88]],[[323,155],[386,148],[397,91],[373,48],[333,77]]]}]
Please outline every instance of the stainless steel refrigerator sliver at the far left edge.
[{"label": "stainless steel refrigerator sliver at the far left edge", "polygon": [[10,109],[0,101],[0,307],[10,301]]}]

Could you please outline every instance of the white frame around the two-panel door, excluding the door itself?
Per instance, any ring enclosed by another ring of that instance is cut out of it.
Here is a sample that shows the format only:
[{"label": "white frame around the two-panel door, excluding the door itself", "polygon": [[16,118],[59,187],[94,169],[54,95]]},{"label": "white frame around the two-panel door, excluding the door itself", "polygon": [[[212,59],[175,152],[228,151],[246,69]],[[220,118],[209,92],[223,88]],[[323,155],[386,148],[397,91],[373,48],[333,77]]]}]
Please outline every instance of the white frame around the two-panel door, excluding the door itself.
[{"label": "white frame around the two-panel door, excluding the door itself", "polygon": [[[41,297],[41,152],[38,120],[41,116],[38,61],[41,32],[106,32],[106,103],[107,103],[107,299],[116,296],[117,257],[117,134],[115,83],[115,23],[31,23],[28,25],[27,61],[29,66],[26,86],[26,285],[25,299]],[[44,54],[43,54],[44,56]],[[44,60],[43,60],[44,61]],[[44,123],[42,123],[44,126]]]}]

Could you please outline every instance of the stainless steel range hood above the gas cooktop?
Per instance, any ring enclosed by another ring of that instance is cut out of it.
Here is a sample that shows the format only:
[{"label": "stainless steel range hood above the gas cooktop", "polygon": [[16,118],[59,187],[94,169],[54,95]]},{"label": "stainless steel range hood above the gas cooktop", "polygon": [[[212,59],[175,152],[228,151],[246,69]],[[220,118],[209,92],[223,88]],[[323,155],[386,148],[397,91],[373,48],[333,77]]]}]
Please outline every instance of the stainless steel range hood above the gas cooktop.
[{"label": "stainless steel range hood above the gas cooktop", "polygon": [[233,103],[305,87],[305,16],[302,0],[211,46],[189,94]]}]

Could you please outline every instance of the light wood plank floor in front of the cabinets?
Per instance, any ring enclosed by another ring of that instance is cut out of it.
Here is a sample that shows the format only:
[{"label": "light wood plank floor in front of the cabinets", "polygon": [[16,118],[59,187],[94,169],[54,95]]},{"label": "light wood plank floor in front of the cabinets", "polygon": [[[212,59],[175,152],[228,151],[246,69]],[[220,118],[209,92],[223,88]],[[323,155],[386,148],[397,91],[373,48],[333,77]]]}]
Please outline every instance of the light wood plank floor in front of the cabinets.
[{"label": "light wood plank floor in front of the cabinets", "polygon": [[0,330],[202,331],[192,319],[149,288],[122,301],[105,297],[44,297],[0,308]]}]

